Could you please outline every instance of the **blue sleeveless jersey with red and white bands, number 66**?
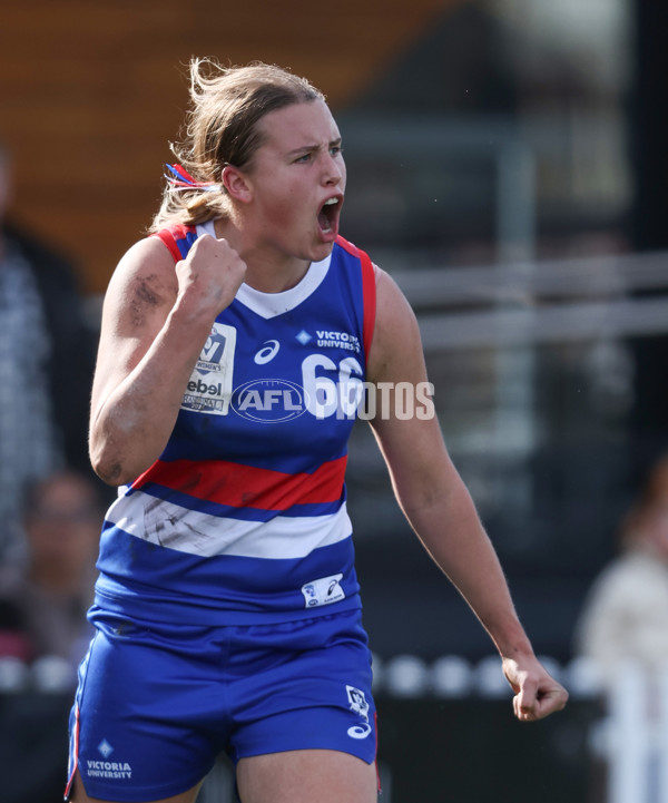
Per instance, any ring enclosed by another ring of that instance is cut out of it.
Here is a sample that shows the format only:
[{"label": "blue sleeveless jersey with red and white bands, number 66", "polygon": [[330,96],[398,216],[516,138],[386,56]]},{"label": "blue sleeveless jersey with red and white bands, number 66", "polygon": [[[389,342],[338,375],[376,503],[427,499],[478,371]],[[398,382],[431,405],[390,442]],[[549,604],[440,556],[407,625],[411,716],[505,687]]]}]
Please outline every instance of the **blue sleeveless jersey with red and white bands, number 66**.
[{"label": "blue sleeveless jersey with red and white bands, number 66", "polygon": [[[203,232],[157,236],[180,259]],[[106,515],[99,606],[218,625],[361,607],[344,473],[374,317],[371,261],[342,237],[286,292],[239,287],[165,451]]]}]

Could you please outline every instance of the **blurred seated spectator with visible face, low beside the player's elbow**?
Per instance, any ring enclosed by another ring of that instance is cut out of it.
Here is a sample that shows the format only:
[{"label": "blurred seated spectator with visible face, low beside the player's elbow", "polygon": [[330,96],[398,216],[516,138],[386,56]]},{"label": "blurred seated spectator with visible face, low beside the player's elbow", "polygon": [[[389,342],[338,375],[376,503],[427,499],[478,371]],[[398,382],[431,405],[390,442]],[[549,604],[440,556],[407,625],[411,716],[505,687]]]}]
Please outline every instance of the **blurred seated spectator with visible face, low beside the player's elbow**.
[{"label": "blurred seated spectator with visible face, low beside the player's elbow", "polygon": [[86,611],[104,515],[98,489],[62,471],[29,486],[22,501],[26,561],[0,567],[0,655],[58,656],[73,668],[92,635]]}]

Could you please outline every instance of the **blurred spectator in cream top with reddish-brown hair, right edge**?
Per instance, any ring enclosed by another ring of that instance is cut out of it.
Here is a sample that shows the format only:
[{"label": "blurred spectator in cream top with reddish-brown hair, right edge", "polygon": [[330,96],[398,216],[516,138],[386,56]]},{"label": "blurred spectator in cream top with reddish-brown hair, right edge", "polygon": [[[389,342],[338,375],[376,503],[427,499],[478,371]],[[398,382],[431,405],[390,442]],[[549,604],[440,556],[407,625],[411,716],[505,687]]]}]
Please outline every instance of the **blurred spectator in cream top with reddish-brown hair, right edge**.
[{"label": "blurred spectator in cream top with reddish-brown hair, right edge", "polygon": [[668,457],[651,469],[620,530],[620,555],[595,581],[576,649],[607,679],[625,659],[668,666]]}]

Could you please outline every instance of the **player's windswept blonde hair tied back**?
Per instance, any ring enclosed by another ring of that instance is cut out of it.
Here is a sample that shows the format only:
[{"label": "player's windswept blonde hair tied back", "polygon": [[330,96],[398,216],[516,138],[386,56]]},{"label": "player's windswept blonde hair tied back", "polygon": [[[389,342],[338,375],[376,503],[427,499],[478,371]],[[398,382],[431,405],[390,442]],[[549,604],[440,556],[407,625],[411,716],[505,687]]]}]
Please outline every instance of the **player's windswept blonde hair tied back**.
[{"label": "player's windswept blonde hair tied back", "polygon": [[197,184],[167,184],[149,232],[167,225],[197,225],[229,213],[219,184],[226,165],[250,166],[263,144],[259,123],[269,111],[294,104],[324,100],[305,78],[286,69],[255,61],[246,67],[223,67],[213,59],[190,61],[190,108],[180,143],[170,148]]}]

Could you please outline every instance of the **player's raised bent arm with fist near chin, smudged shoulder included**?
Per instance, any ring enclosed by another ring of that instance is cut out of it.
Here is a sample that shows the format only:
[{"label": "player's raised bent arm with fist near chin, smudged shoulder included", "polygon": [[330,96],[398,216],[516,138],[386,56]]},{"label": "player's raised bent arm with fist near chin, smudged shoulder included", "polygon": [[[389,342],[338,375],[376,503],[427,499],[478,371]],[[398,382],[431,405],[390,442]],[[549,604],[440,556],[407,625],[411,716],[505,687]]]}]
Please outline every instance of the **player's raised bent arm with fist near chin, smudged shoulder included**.
[{"label": "player's raised bent arm with fist near chin, smudged shoulder included", "polygon": [[120,261],[105,296],[90,409],[90,460],[105,482],[130,482],[165,449],[212,325],[245,271],[225,241],[206,235],[176,266],[156,237]]}]

